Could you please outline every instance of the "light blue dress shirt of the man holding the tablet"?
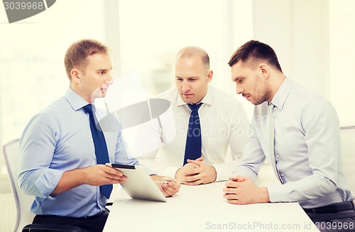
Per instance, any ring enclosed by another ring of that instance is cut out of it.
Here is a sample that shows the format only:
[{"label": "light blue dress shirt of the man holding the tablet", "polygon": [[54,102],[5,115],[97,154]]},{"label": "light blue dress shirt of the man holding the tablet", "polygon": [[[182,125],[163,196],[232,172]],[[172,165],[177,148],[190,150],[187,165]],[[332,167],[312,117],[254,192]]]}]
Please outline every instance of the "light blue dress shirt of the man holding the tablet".
[{"label": "light blue dress shirt of the man holding the tablet", "polygon": [[[35,196],[34,214],[83,217],[105,209],[107,198],[99,187],[89,184],[50,196],[63,172],[97,165],[89,114],[82,109],[87,104],[69,88],[65,96],[35,115],[23,131],[18,182],[23,192]],[[119,123],[113,122],[115,129],[104,131],[110,162],[138,165],[130,158]]]}]

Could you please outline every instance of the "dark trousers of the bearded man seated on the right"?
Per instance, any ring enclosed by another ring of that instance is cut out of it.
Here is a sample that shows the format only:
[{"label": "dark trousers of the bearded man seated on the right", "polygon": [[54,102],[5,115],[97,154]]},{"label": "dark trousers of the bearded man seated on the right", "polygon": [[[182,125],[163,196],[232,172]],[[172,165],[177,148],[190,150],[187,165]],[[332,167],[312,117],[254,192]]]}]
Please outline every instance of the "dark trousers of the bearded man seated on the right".
[{"label": "dark trousers of the bearded man seated on the right", "polygon": [[353,201],[304,210],[320,231],[355,231]]}]

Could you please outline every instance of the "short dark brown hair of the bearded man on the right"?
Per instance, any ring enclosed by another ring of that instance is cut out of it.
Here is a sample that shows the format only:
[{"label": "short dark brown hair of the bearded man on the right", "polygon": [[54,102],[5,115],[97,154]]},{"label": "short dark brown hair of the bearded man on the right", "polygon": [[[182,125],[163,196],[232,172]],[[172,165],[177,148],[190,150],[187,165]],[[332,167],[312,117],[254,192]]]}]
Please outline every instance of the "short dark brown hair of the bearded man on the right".
[{"label": "short dark brown hair of the bearded man on the right", "polygon": [[270,65],[273,65],[276,69],[280,70],[280,72],[283,72],[273,48],[257,40],[249,40],[244,43],[244,45],[241,45],[233,55],[231,55],[228,65],[232,67],[239,61],[255,63],[257,60],[266,60]]}]

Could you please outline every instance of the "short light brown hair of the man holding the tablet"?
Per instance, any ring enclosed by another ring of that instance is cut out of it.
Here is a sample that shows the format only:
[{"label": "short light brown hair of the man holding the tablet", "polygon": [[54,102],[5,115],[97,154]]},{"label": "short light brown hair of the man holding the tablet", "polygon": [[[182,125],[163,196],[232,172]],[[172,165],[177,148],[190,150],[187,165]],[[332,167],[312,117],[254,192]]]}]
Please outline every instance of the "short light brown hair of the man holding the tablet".
[{"label": "short light brown hair of the man holding the tablet", "polygon": [[72,69],[77,68],[85,72],[87,57],[96,53],[108,53],[107,46],[97,40],[78,40],[67,49],[64,58],[65,71],[69,79],[72,79]]}]

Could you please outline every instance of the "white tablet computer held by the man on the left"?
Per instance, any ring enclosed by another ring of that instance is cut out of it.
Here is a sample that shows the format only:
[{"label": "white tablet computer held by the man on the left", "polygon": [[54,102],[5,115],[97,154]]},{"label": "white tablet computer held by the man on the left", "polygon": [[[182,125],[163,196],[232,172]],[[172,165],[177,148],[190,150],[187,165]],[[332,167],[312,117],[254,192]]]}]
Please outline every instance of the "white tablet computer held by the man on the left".
[{"label": "white tablet computer held by the man on the left", "polygon": [[133,199],[143,199],[149,201],[166,201],[163,192],[148,175],[143,167],[138,165],[116,165],[107,163],[109,167],[114,167],[127,177],[126,182],[121,184],[124,190]]}]

